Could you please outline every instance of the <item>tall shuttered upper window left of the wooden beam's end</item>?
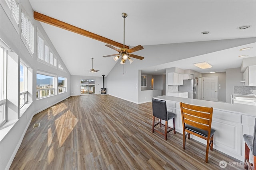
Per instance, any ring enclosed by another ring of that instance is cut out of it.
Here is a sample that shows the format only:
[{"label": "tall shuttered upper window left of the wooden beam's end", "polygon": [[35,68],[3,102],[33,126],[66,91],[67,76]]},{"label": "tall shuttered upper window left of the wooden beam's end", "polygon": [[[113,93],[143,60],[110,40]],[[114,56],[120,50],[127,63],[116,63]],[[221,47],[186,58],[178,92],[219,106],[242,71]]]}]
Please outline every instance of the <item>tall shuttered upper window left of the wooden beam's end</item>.
[{"label": "tall shuttered upper window left of the wooden beam's end", "polygon": [[26,12],[21,10],[21,39],[31,54],[34,54],[34,25]]}]

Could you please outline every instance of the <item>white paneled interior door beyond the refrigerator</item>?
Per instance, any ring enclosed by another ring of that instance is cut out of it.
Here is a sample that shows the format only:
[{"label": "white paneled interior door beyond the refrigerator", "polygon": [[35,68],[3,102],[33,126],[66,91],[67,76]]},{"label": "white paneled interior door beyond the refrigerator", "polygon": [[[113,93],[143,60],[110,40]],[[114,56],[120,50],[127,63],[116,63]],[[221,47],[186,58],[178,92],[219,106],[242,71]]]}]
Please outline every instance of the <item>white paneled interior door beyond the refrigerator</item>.
[{"label": "white paneled interior door beyond the refrigerator", "polygon": [[203,100],[218,102],[218,77],[203,77]]}]

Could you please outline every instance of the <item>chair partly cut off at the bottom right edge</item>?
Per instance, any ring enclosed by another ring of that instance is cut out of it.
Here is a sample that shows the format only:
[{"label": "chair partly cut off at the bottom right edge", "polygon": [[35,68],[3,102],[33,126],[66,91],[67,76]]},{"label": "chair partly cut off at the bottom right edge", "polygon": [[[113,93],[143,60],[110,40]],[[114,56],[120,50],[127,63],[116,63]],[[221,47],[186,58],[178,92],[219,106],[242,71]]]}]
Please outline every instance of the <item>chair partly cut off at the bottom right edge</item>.
[{"label": "chair partly cut off at the bottom right edge", "polygon": [[[253,136],[244,134],[244,142],[245,142],[244,169],[247,169],[247,170],[248,170],[248,167],[250,167],[250,169],[256,170],[256,137],[255,136],[256,136],[256,119],[254,123]],[[250,151],[252,152],[252,156],[253,156],[254,168],[251,168],[251,163],[249,162]]]}]

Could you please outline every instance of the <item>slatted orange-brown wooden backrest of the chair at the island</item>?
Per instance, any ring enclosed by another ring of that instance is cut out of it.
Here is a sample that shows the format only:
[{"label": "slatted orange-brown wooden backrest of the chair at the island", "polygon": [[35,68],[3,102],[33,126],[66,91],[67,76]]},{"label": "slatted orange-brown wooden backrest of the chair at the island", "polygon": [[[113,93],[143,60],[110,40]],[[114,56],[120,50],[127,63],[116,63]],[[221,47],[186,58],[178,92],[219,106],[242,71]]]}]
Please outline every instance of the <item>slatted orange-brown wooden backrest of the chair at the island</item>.
[{"label": "slatted orange-brown wooden backrest of the chair at the island", "polygon": [[213,112],[212,107],[194,106],[180,102],[180,109],[183,128],[185,128],[185,124],[191,125],[208,131],[208,136],[210,136]]}]

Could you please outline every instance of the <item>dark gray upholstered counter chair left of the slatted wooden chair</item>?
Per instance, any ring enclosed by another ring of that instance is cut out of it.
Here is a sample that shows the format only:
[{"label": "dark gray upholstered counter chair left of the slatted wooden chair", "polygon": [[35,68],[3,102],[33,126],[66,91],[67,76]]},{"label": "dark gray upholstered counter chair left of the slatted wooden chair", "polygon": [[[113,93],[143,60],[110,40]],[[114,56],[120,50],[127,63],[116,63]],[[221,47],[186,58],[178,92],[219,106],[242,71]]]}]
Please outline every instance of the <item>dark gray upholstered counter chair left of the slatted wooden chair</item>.
[{"label": "dark gray upholstered counter chair left of the slatted wooden chair", "polygon": [[[152,99],[152,110],[153,110],[153,124],[152,124],[152,133],[156,131],[157,133],[160,133],[161,135],[164,135],[164,140],[167,140],[167,133],[173,130],[174,134],[176,133],[175,131],[175,117],[176,115],[170,111],[167,111],[166,107],[166,101],[164,100],[157,100],[157,99]],[[159,122],[155,124],[155,117],[159,118]],[[173,119],[173,128],[170,128],[168,130],[168,120]],[[154,127],[158,124],[160,124],[160,127],[162,127],[162,122],[161,120],[165,121],[165,132],[162,133]]]}]

